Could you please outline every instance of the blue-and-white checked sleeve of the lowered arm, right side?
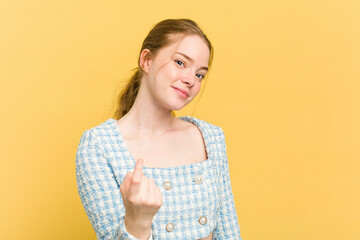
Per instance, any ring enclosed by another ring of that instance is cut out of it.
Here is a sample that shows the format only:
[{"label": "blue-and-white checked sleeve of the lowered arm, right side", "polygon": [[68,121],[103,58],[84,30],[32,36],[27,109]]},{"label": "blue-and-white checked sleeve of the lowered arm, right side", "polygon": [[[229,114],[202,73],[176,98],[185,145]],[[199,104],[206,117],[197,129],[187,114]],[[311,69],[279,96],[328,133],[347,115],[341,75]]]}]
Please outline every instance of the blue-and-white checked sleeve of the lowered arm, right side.
[{"label": "blue-and-white checked sleeve of the lowered arm, right side", "polygon": [[214,239],[241,240],[240,227],[235,209],[234,196],[231,188],[229,164],[226,153],[225,135],[220,128],[220,171],[219,171],[219,195],[220,209],[214,230]]}]

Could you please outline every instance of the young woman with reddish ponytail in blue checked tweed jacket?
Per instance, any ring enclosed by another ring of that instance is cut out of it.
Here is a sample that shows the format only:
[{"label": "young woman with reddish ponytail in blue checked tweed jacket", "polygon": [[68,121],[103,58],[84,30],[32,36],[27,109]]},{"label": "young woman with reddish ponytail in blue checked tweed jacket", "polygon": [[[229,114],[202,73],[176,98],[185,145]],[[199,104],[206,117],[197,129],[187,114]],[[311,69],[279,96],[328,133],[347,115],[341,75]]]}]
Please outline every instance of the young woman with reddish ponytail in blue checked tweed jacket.
[{"label": "young woman with reddish ponytail in blue checked tweed jacket", "polygon": [[117,120],[83,133],[78,192],[98,239],[241,239],[224,132],[173,114],[198,94],[212,56],[194,21],[159,22]]}]

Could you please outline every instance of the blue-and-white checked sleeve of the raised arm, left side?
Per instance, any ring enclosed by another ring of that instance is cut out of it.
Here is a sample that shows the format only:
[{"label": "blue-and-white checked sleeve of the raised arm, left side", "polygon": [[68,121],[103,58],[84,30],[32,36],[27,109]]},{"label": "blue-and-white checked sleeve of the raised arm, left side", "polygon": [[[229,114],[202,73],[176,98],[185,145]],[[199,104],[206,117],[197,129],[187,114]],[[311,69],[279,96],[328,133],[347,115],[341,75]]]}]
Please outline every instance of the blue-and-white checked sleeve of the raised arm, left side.
[{"label": "blue-and-white checked sleeve of the raised arm, left side", "polygon": [[76,152],[76,181],[81,203],[97,239],[137,240],[126,231],[120,186],[92,129],[86,130],[80,139]]}]

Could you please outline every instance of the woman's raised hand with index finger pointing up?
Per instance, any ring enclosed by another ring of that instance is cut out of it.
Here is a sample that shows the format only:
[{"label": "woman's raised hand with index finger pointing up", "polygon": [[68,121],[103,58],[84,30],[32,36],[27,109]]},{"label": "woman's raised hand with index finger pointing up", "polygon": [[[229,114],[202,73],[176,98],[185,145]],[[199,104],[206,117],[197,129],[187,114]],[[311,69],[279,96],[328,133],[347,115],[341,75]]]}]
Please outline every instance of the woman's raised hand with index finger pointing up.
[{"label": "woman's raised hand with index finger pointing up", "polygon": [[139,158],[134,172],[128,172],[120,185],[125,207],[124,221],[129,232],[141,233],[151,229],[152,220],[162,205],[159,187],[154,179],[142,173],[142,167],[143,159]]}]

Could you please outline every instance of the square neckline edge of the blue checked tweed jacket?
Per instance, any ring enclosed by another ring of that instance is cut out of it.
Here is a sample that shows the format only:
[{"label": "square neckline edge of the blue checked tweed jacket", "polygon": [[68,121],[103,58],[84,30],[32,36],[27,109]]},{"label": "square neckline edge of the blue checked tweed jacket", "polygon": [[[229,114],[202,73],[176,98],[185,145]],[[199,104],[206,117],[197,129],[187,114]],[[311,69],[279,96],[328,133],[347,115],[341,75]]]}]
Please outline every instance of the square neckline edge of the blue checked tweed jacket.
[{"label": "square neckline edge of the blue checked tweed jacket", "polygon": [[[173,167],[166,167],[166,168],[158,168],[158,167],[146,167],[143,166],[143,170],[151,170],[151,171],[172,171],[172,170],[187,170],[187,169],[193,169],[193,168],[200,168],[202,167],[202,165],[207,165],[210,164],[212,157],[211,157],[211,151],[210,151],[210,145],[208,142],[208,138],[206,135],[206,131],[204,131],[204,129],[202,128],[202,126],[200,125],[200,122],[198,119],[191,117],[191,116],[180,116],[177,117],[178,119],[181,119],[183,121],[187,121],[192,123],[193,125],[195,125],[195,127],[197,127],[200,131],[201,137],[203,139],[204,145],[205,145],[205,150],[206,150],[206,155],[207,155],[207,159],[200,161],[200,162],[196,162],[196,163],[190,163],[190,164],[185,164],[185,165],[179,165],[179,166],[173,166]],[[113,118],[109,118],[108,121],[111,121],[111,124],[113,126],[113,130],[115,131],[116,135],[119,137],[118,140],[120,141],[121,147],[123,149],[125,149],[125,152],[130,156],[132,164],[135,166],[136,161],[135,158],[133,157],[133,155],[131,154],[131,152],[129,151],[128,147],[125,144],[124,138],[122,136],[122,133],[120,131],[120,129],[117,126],[116,120]]]}]

